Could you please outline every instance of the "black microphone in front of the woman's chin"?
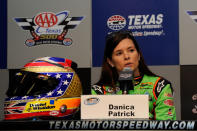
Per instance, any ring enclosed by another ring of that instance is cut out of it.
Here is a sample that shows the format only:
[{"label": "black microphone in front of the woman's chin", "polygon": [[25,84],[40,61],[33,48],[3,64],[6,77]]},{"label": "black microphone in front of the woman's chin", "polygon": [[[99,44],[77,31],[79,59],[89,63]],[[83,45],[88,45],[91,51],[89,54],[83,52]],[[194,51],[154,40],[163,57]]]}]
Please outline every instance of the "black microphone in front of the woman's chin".
[{"label": "black microphone in front of the woman's chin", "polygon": [[119,73],[118,78],[122,94],[128,94],[129,90],[133,90],[133,71],[129,67],[125,67]]}]

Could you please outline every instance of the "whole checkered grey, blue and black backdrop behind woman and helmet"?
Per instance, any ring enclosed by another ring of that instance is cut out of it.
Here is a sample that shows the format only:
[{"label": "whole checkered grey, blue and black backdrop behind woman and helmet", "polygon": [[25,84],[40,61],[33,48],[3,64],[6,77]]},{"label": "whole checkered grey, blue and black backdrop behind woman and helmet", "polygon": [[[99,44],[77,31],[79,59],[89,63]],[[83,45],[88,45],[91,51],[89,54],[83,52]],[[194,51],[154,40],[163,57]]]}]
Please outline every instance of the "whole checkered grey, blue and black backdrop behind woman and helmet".
[{"label": "whole checkered grey, blue and black backdrop behind woman and helmet", "polygon": [[[2,0],[0,5],[1,119],[9,70],[37,57],[66,57],[78,63],[81,78],[91,74],[83,87],[89,93],[100,76],[105,36],[121,29],[132,30],[150,69],[171,81],[177,119],[197,119],[197,1]],[[43,12],[66,23],[36,21]],[[56,39],[64,31],[65,39]]]}]

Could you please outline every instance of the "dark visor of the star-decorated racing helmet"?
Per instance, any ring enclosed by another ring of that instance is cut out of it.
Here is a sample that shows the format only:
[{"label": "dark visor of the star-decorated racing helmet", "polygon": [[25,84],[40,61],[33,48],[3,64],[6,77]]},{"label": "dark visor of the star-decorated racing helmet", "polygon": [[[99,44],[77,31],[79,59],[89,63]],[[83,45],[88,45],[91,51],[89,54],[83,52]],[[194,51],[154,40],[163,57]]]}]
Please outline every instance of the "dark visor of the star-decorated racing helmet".
[{"label": "dark visor of the star-decorated racing helmet", "polygon": [[19,71],[10,79],[8,97],[37,96],[52,91],[59,84],[54,77],[40,73]]}]

